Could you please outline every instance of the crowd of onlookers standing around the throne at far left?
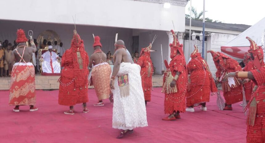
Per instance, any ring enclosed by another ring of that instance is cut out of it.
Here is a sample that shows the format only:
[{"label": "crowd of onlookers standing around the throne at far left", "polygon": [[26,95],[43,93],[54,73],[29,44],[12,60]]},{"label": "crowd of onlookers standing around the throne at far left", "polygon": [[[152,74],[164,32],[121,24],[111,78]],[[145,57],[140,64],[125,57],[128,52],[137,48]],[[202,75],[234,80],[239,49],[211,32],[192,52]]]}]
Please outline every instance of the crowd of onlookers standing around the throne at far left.
[{"label": "crowd of onlookers standing around the throne at far left", "polygon": [[[30,42],[27,42],[26,44],[28,46],[31,46],[29,44]],[[51,43],[51,41],[47,41],[46,39],[43,40],[43,43],[38,46],[37,40],[34,39],[34,44],[37,47],[37,51],[35,53],[33,53],[33,56],[35,56],[35,72],[38,73],[39,72],[39,64],[38,64],[38,60],[39,60],[39,49],[44,49],[45,47],[48,46],[52,46],[53,49],[57,50],[57,54],[59,57],[63,56],[63,53],[65,52],[65,49],[63,48],[63,43],[60,42],[58,45],[57,41],[54,41],[54,44]],[[14,44],[9,43],[8,40],[5,40],[4,42],[0,41],[0,77],[5,77],[5,76],[10,76],[9,75],[9,60],[12,54],[12,51],[15,50],[15,48],[17,47],[17,43],[16,41],[14,41]]]}]

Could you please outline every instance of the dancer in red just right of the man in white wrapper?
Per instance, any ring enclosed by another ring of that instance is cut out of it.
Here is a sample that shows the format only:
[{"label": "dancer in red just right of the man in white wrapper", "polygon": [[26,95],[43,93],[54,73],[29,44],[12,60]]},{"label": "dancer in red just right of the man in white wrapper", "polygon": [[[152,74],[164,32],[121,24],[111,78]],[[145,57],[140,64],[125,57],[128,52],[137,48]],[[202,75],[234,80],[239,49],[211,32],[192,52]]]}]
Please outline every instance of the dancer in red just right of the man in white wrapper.
[{"label": "dancer in red just right of the man in white wrapper", "polygon": [[137,61],[137,64],[141,67],[141,78],[142,78],[142,87],[145,95],[145,105],[148,101],[151,101],[151,90],[152,90],[152,73],[153,73],[153,63],[150,57],[150,52],[152,44],[146,48],[142,48],[140,57]]}]

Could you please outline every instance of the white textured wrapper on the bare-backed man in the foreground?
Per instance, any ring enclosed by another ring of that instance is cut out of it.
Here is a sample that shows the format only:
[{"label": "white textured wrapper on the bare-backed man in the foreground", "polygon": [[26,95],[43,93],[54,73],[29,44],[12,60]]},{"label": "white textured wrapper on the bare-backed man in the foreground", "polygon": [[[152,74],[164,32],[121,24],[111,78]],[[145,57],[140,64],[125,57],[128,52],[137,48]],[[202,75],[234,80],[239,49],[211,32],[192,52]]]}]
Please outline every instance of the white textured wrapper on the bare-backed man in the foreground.
[{"label": "white textured wrapper on the bare-backed man in the foreground", "polygon": [[[121,63],[114,80],[112,127],[130,129],[148,126],[145,97],[142,88],[141,67],[138,64]],[[128,74],[129,95],[122,96],[117,76]]]}]

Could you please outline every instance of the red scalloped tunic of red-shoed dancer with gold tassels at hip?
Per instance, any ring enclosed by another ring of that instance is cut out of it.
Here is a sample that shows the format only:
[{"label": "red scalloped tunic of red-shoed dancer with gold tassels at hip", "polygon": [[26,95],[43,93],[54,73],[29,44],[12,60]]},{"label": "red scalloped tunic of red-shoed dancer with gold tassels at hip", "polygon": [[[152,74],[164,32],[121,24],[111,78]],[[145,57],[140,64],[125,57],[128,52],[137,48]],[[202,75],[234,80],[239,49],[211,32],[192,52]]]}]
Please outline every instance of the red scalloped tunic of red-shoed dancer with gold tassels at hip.
[{"label": "red scalloped tunic of red-shoed dancer with gold tassels at hip", "polygon": [[[170,73],[171,72],[171,73]],[[169,69],[166,70],[165,76],[163,79],[163,91],[167,90],[167,78],[170,78],[168,74],[172,74],[174,77],[176,72],[180,72],[180,75],[177,79],[177,93],[167,93],[165,92],[165,114],[173,114],[174,111],[185,112],[186,109],[186,91],[188,83],[188,72],[186,68],[185,58],[182,55],[175,56],[169,63]],[[169,82],[171,82],[169,80]],[[169,83],[170,84],[170,83]],[[170,88],[170,87],[169,87]]]}]

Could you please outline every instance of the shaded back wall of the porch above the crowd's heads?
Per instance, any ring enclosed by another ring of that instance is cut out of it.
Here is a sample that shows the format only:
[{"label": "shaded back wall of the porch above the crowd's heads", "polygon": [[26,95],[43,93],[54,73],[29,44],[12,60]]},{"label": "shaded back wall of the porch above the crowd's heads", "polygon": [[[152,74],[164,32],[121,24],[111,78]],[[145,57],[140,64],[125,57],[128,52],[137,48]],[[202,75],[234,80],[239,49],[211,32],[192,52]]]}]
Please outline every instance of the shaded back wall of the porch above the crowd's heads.
[{"label": "shaded back wall of the porch above the crowd's heads", "polygon": [[[0,20],[0,27],[4,27],[0,30],[0,41],[4,41],[7,39],[10,43],[12,43],[12,45],[13,41],[17,38],[17,29],[24,29],[27,38],[29,38],[28,30],[33,30],[33,38],[35,39],[37,39],[39,34],[43,31],[53,30],[59,35],[61,41],[63,42],[63,47],[66,49],[69,49],[71,46],[71,40],[73,37],[74,30],[74,25],[67,24],[3,20]],[[88,55],[91,55],[94,52],[94,49],[92,47],[94,43],[92,33],[94,33],[95,36],[100,36],[102,50],[105,53],[111,51],[112,54],[114,54],[116,32],[118,32],[118,39],[123,40],[125,42],[125,46],[130,52],[132,52],[132,29],[77,25],[76,30],[80,35],[81,39],[84,40],[85,49],[88,52]]]}]

